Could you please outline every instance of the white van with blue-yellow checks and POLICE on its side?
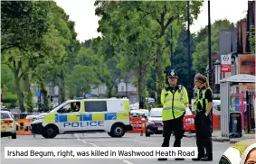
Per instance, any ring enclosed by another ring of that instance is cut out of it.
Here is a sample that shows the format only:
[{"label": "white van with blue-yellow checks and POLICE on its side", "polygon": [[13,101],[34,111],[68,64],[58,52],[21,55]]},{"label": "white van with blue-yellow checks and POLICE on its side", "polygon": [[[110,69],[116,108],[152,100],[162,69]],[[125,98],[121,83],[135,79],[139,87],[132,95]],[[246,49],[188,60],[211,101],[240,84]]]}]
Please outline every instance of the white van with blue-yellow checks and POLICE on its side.
[{"label": "white van with blue-yellow checks and POLICE on its side", "polygon": [[34,118],[31,132],[44,138],[84,132],[108,132],[110,137],[122,137],[132,131],[128,105],[128,99],[68,100]]}]

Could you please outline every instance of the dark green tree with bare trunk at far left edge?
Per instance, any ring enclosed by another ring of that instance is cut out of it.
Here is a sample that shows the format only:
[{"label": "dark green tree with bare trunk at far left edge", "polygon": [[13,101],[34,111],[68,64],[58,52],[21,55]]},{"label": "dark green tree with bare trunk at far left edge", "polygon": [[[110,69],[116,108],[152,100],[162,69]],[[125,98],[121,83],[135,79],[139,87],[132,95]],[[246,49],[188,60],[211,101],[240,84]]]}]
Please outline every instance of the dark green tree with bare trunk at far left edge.
[{"label": "dark green tree with bare trunk at far left edge", "polygon": [[27,73],[30,59],[42,58],[35,53],[42,46],[49,27],[49,2],[1,2],[3,61],[14,72],[14,84],[20,110],[24,112],[24,93],[20,79]]}]

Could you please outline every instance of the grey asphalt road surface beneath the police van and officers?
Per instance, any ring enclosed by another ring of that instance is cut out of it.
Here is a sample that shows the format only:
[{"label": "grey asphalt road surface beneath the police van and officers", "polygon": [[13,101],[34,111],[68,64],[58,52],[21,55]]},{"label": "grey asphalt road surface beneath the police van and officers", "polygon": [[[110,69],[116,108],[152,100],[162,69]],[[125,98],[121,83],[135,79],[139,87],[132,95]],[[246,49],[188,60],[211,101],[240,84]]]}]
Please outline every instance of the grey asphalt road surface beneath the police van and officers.
[{"label": "grey asphalt road surface beneath the police van and officers", "polygon": [[[122,138],[110,138],[107,133],[85,133],[85,134],[64,134],[58,135],[55,139],[44,139],[40,135],[17,136],[17,139],[1,138],[1,152],[5,152],[5,147],[160,147],[163,137],[161,135],[152,135],[150,137],[140,136],[139,133],[127,133]],[[171,138],[170,145],[174,142]],[[183,138],[182,146],[195,147],[195,141],[192,138]],[[231,146],[229,142],[213,142],[213,161],[200,163],[219,163],[223,152]],[[191,159],[185,161],[157,161],[156,159],[5,159],[5,153],[1,153],[2,164],[155,164],[155,163],[177,163],[185,164],[194,162]],[[197,163],[197,162],[195,162]]]}]

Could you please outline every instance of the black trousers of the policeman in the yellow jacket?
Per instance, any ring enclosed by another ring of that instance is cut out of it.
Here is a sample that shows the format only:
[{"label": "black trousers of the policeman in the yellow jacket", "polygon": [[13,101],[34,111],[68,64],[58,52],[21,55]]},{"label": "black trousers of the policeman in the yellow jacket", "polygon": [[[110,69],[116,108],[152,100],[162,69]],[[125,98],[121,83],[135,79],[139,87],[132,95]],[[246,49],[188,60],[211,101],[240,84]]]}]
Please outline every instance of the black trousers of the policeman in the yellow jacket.
[{"label": "black trousers of the policeman in the yellow jacket", "polygon": [[163,137],[164,141],[162,143],[162,147],[169,147],[170,138],[172,132],[175,134],[175,142],[174,147],[181,147],[181,139],[184,136],[184,125],[183,125],[184,115],[175,118],[174,120],[163,121],[164,123],[164,131]]}]

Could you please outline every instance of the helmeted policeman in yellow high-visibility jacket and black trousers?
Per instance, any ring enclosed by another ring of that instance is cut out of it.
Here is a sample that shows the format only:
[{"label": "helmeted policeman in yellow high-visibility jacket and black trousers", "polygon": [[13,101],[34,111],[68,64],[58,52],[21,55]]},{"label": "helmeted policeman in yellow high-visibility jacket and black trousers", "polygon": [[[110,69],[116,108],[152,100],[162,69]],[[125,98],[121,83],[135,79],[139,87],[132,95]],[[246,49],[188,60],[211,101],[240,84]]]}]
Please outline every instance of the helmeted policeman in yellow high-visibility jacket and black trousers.
[{"label": "helmeted policeman in yellow high-visibility jacket and black trousers", "polygon": [[[177,85],[177,73],[174,69],[169,71],[169,85],[163,88],[161,103],[163,105],[162,118],[164,123],[164,141],[162,147],[169,147],[171,132],[175,134],[174,147],[181,147],[181,140],[184,136],[183,118],[188,104],[188,96],[185,87]],[[167,159],[158,159],[167,160]],[[184,159],[175,159],[184,160]]]}]

